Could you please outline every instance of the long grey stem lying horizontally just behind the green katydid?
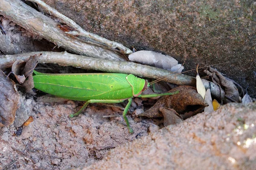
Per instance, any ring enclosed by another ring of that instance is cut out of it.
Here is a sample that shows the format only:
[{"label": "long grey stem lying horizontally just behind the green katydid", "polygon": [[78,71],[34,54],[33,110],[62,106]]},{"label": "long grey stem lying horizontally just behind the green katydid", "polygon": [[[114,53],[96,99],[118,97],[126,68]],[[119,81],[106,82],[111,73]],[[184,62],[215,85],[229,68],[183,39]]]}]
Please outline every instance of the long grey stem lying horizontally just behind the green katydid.
[{"label": "long grey stem lying horizontally just behind the green katydid", "polygon": [[[12,67],[12,64],[18,60],[22,59],[26,61],[29,56],[40,54],[39,62],[56,63],[64,66],[73,66],[77,68],[99,70],[110,73],[124,73],[124,74],[134,74],[140,77],[148,77],[152,79],[159,79],[160,77],[169,75],[170,71],[155,68],[147,65],[141,65],[134,62],[124,62],[124,61],[110,61],[106,59],[93,59],[90,57],[79,56],[75,54],[69,54],[67,52],[30,52],[15,55],[5,55],[0,59],[0,69],[5,69]],[[183,74],[172,74],[165,79],[166,82],[171,82],[176,85],[196,85],[195,77],[183,75]],[[202,79],[204,87],[206,89],[211,88],[211,94],[217,98],[221,99],[221,96],[225,96],[225,92],[221,89],[222,95],[220,95],[220,89],[218,85],[212,82]]]}]

